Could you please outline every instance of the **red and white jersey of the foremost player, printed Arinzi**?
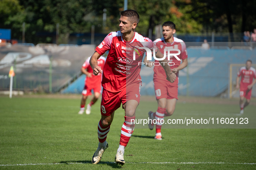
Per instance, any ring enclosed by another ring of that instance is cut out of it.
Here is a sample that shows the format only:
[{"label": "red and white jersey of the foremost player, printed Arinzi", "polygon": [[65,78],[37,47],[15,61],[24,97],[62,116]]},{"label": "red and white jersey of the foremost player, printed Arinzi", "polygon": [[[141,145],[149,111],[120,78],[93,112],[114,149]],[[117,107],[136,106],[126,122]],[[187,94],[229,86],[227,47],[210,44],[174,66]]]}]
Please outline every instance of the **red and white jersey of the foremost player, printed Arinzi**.
[{"label": "red and white jersey of the foremost player, printed Arinzi", "polygon": [[[138,63],[142,62],[145,50],[140,50],[140,53],[136,52],[136,60],[133,60],[133,51],[138,47],[133,47],[131,44],[148,47],[150,50],[157,48],[149,38],[145,38],[137,32],[132,41],[123,40],[122,35],[120,31],[110,32],[96,48],[100,55],[109,50],[103,70],[102,87],[111,92],[121,91],[126,85],[141,82],[139,76],[141,65]],[[142,44],[140,42],[149,43]]]}]

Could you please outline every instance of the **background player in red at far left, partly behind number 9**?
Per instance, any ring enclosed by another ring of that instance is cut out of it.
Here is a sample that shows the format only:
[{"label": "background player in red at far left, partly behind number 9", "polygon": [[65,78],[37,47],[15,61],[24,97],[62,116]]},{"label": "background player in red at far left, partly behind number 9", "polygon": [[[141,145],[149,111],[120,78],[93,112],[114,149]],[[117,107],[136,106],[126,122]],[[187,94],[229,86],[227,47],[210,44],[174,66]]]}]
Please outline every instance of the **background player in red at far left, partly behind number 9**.
[{"label": "background player in red at far left, partly behind number 9", "polygon": [[[89,104],[87,104],[87,108],[85,110],[86,114],[90,114],[91,113],[91,106],[98,100],[98,98],[100,97],[100,93],[101,93],[101,73],[98,74],[97,76],[93,75],[93,70],[90,66],[90,61],[91,57],[88,57],[87,60],[84,62],[82,68],[81,68],[81,72],[84,73],[86,75],[86,78],[84,80],[84,90],[82,91],[82,99],[81,99],[81,107],[80,107],[80,111],[78,112],[78,114],[83,114],[84,113],[84,106],[85,106],[85,102],[86,99],[88,97],[88,95],[91,95],[91,90],[93,89],[94,91],[94,97],[91,99],[91,102]],[[103,69],[104,68],[104,64],[105,64],[105,57],[100,57],[97,62],[98,62],[98,66]],[[87,70],[86,70],[87,69]]]}]

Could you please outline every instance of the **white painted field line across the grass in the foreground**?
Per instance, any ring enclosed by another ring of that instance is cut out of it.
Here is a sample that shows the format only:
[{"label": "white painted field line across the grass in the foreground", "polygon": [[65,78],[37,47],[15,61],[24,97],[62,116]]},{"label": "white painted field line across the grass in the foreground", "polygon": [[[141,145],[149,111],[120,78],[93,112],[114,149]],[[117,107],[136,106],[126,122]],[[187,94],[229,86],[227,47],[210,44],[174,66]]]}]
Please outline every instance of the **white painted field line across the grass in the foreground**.
[{"label": "white painted field line across the grass in the foreground", "polygon": [[[128,164],[247,164],[256,165],[256,163],[233,163],[233,162],[126,162]],[[3,164],[6,166],[26,166],[26,165],[60,165],[60,164],[91,164],[91,162],[71,162],[71,163],[52,163],[52,164]],[[115,162],[99,162],[98,164],[116,164]]]}]

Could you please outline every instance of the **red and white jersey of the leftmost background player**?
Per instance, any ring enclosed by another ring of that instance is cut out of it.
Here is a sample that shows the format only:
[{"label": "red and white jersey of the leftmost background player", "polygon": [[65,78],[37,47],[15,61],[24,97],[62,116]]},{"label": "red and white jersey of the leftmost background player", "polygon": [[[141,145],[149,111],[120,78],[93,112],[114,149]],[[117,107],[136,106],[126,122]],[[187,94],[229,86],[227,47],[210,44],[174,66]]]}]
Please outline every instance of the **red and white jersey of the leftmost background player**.
[{"label": "red and white jersey of the leftmost background player", "polygon": [[[85,62],[84,62],[84,64],[83,64],[82,67],[83,67],[84,69],[87,69],[87,72],[93,73],[93,70],[92,70],[92,68],[91,68],[91,66],[90,66],[90,63],[89,63],[90,59],[91,59],[91,57],[88,57],[88,58],[85,60]],[[98,66],[103,70],[103,69],[104,69],[104,64],[105,64],[105,62],[106,62],[105,57],[102,57],[102,56],[101,56],[101,57],[97,60],[97,62],[98,62]],[[86,78],[85,78],[84,83],[87,84],[87,85],[95,85],[95,84],[100,83],[100,82],[101,82],[101,79],[102,79],[101,73],[99,73],[97,76],[95,76],[94,74],[92,74],[91,78],[89,78],[89,77],[86,77]]]}]

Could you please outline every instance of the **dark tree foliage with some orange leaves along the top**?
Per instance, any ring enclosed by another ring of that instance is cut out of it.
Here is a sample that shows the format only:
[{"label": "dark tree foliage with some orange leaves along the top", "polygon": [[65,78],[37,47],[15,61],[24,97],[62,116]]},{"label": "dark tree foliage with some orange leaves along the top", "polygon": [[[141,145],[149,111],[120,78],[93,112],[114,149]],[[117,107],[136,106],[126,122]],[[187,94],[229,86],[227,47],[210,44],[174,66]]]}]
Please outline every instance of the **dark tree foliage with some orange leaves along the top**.
[{"label": "dark tree foliage with some orange leaves along the top", "polygon": [[[107,9],[107,21],[102,16]],[[128,0],[140,22],[136,31],[148,35],[149,29],[172,21],[178,32],[243,32],[256,28],[255,0]],[[123,0],[0,0],[0,28],[12,29],[12,38],[22,38],[26,22],[26,41],[52,43],[59,23],[59,42],[67,43],[71,33],[91,31],[108,33],[119,30],[118,19]]]}]

